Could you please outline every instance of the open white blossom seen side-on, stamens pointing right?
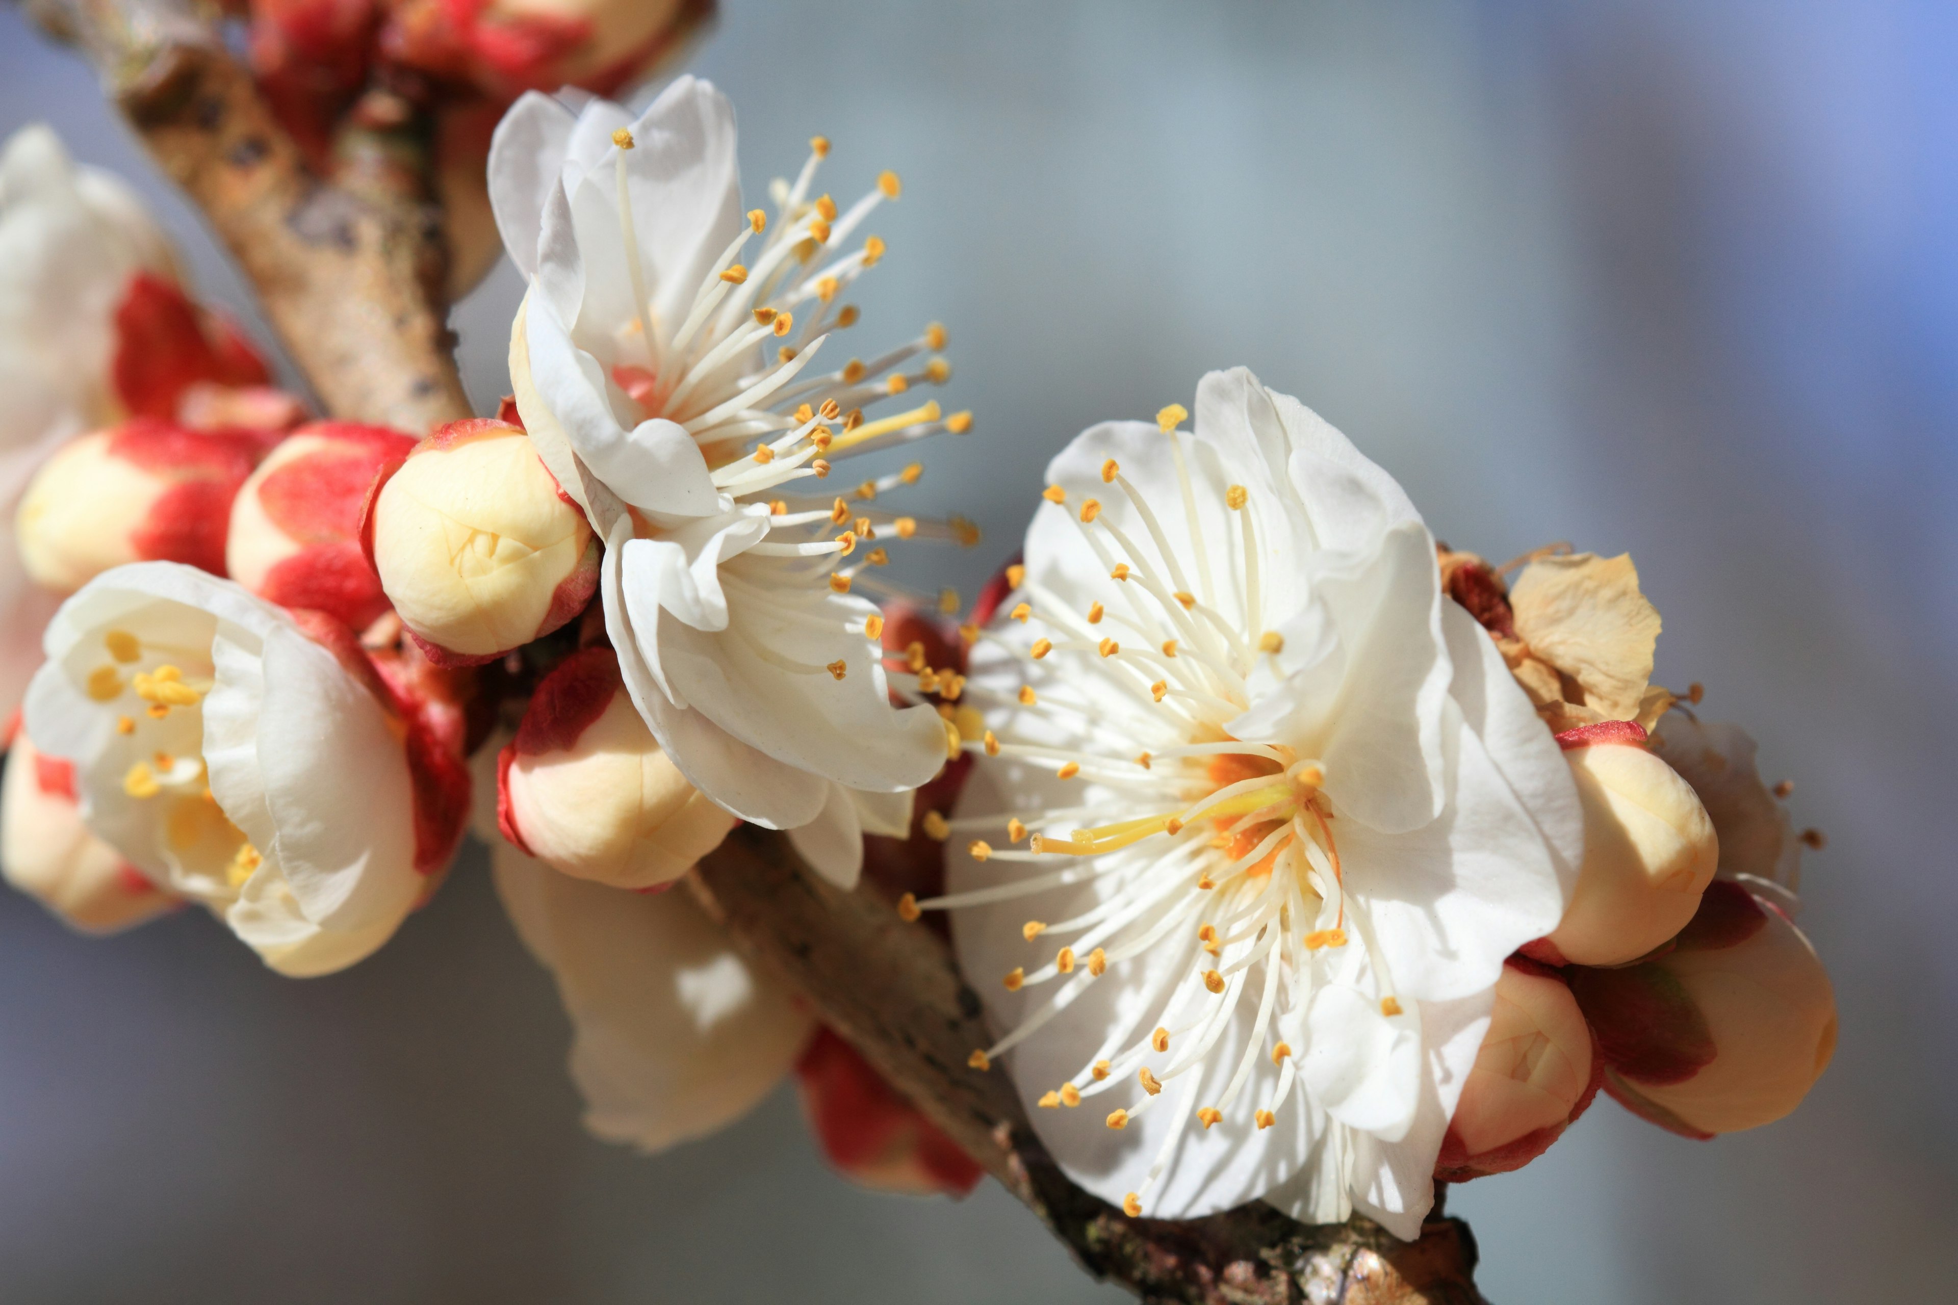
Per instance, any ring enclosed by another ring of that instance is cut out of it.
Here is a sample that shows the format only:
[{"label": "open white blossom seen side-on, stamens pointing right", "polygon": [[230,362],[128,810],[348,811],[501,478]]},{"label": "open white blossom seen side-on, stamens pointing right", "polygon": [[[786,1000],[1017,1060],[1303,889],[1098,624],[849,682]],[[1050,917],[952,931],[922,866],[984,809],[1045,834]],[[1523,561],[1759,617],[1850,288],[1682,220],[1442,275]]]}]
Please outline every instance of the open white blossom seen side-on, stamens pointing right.
[{"label": "open white blossom seen side-on, stamens pointing right", "polygon": [[517,409],[605,540],[605,622],[634,704],[701,792],[797,830],[848,884],[860,833],[903,832],[909,790],[948,751],[930,708],[891,706],[881,618],[854,593],[887,538],[932,530],[881,507],[918,466],[840,493],[816,481],[844,454],[971,417],[930,401],[863,419],[950,376],[942,358],[905,370],[944,344],[938,327],[867,364],[811,366],[858,317],[840,295],[883,254],[875,235],[844,243],[899,194],[885,172],[840,211],[813,194],[826,153],[816,137],[769,221],[742,213],[734,113],[707,82],[679,78],[638,119],[531,94],[497,129],[490,192],[531,280],[511,335]]}]

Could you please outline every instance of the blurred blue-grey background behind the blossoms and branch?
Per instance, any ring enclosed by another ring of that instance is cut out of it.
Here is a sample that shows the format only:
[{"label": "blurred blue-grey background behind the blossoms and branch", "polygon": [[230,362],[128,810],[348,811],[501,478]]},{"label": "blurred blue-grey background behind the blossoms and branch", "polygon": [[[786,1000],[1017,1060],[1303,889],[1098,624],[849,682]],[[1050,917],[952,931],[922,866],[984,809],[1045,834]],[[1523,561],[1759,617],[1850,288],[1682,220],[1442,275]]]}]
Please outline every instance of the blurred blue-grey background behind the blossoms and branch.
[{"label": "blurred blue-grey background behind the blossoms and branch", "polygon": [[[1688,1143],[1600,1100],[1453,1190],[1506,1303],[1944,1299],[1958,1280],[1958,8],[1938,0],[724,0],[750,190],[836,141],[879,215],[865,348],[952,327],[914,552],[971,593],[1081,427],[1249,364],[1508,558],[1629,550],[1660,679],[1795,781],[1842,1012],[1792,1119]],[[0,127],[141,184],[82,67],[0,12]],[[458,307],[505,387],[505,268]],[[260,338],[266,338],[260,327]],[[488,411],[488,407],[486,407]],[[779,1092],[587,1141],[568,1029],[480,859],[352,972],[184,914],[90,943],[0,900],[0,1299],[1112,1301],[1010,1197],[862,1193]],[[1942,1283],[1942,1285],[1940,1285]]]}]

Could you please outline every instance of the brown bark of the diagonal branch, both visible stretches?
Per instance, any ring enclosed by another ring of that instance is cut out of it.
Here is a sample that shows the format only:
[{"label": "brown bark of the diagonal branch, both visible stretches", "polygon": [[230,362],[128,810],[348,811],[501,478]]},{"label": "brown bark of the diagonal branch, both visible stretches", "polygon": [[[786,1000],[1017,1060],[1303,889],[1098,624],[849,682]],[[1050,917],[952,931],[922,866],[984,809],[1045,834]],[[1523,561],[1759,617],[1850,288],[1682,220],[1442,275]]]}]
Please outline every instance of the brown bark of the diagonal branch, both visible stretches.
[{"label": "brown bark of the diagonal branch, both visible stretches", "polygon": [[[159,166],[251,276],[335,417],[409,430],[468,417],[441,303],[441,213],[425,125],[388,98],[356,110],[339,174],[311,174],[190,0],[22,0],[82,49]],[[977,994],[928,929],[869,884],[840,892],[785,837],[736,832],[689,877],[740,947],[801,988],[897,1088],[1075,1252],[1149,1301],[1472,1305],[1474,1238],[1433,1217],[1414,1244],[1355,1217],[1306,1227],[1251,1203],[1185,1223],[1128,1219],[1073,1186],[1026,1123]]]}]

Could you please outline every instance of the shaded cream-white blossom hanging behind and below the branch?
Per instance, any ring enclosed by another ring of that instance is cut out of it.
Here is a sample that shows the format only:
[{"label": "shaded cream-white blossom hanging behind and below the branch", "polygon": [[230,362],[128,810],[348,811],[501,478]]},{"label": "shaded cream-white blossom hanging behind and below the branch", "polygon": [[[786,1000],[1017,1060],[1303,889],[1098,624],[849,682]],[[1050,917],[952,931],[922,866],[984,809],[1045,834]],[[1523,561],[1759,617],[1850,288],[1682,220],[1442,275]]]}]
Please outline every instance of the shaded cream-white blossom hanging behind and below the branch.
[{"label": "shaded cream-white blossom hanging behind and below the branch", "polygon": [[509,843],[491,865],[517,933],[558,980],[597,1137],[660,1150],[713,1133],[795,1064],[813,1021],[683,890],[572,878]]}]

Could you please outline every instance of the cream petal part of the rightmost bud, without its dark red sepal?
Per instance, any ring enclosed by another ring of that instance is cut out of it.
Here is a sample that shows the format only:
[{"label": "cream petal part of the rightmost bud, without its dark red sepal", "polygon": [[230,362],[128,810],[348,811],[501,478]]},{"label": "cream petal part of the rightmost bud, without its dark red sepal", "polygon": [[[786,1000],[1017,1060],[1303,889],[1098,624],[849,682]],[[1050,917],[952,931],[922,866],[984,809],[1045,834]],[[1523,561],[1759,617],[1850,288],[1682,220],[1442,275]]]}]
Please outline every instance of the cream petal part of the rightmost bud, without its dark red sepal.
[{"label": "cream petal part of the rightmost bud, without its dark red sepal", "polygon": [[1713,1060],[1684,1082],[1631,1090],[1702,1133],[1774,1123],[1807,1096],[1835,1055],[1829,972],[1782,912],[1733,947],[1680,947],[1653,965],[1698,1008]]}]

